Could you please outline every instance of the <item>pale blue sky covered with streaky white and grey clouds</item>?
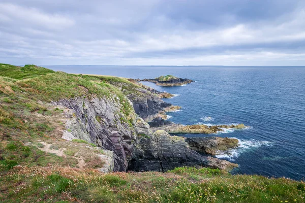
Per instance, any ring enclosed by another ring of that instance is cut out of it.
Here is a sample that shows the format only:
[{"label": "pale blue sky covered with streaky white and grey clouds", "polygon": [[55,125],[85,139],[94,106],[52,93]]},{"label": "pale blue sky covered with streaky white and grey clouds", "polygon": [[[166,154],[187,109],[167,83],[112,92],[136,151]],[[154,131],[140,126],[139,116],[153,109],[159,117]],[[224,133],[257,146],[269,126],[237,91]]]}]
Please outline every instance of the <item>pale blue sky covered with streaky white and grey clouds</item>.
[{"label": "pale blue sky covered with streaky white and grey clouds", "polygon": [[0,63],[305,65],[305,1],[1,0]]}]

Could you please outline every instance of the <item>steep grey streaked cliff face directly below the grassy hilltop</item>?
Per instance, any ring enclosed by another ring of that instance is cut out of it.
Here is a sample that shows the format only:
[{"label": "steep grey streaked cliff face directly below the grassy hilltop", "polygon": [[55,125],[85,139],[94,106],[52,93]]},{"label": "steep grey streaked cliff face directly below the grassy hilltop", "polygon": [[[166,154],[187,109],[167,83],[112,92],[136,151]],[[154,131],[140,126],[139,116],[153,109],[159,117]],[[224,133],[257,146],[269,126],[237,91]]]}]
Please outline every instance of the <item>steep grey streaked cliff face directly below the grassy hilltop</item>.
[{"label": "steep grey streaked cliff face directly below the grassy hilltop", "polygon": [[118,97],[62,99],[53,104],[74,110],[75,119],[68,126],[73,136],[113,151],[114,171],[127,170],[136,134],[121,112]]}]

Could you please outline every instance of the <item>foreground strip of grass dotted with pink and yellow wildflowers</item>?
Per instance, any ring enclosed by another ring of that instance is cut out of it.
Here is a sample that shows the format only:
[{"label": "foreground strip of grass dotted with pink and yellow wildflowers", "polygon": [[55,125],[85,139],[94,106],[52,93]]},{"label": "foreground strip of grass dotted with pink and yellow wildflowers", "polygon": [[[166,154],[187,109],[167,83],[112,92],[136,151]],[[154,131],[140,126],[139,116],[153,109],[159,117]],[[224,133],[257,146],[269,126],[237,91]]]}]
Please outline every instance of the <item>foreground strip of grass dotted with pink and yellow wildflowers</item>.
[{"label": "foreground strip of grass dotted with pink and yellow wildflowers", "polygon": [[2,202],[303,202],[305,196],[304,182],[213,169],[103,175],[94,169],[16,167],[0,177]]}]

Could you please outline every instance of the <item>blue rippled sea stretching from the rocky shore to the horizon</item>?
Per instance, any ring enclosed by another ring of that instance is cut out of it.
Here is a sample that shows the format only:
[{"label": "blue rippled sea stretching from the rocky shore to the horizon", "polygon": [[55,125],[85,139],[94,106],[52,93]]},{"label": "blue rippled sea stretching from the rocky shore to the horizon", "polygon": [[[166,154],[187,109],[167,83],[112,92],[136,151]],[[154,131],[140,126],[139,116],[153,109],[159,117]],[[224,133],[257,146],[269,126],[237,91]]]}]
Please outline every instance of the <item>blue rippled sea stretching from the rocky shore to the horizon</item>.
[{"label": "blue rippled sea stretching from the rocky shore to the horizon", "polygon": [[[164,99],[181,106],[168,113],[175,123],[208,125],[244,123],[211,136],[237,138],[240,147],[218,155],[239,164],[233,174],[305,179],[305,67],[229,66],[45,66],[55,71],[156,78],[174,75],[196,82],[160,87],[176,94]],[[184,134],[185,137],[207,136]]]}]

